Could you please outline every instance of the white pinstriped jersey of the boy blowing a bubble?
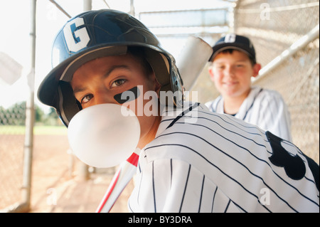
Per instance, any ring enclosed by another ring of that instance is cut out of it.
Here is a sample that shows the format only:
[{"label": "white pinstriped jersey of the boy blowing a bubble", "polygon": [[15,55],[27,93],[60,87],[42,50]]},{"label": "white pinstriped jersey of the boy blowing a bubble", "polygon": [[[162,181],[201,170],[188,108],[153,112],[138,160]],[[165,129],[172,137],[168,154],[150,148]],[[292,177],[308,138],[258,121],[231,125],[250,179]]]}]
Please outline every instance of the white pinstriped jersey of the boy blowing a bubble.
[{"label": "white pinstriped jersey of the boy blowing a bubble", "polygon": [[203,105],[165,113],[129,211],[319,212],[319,166],[294,144]]}]

